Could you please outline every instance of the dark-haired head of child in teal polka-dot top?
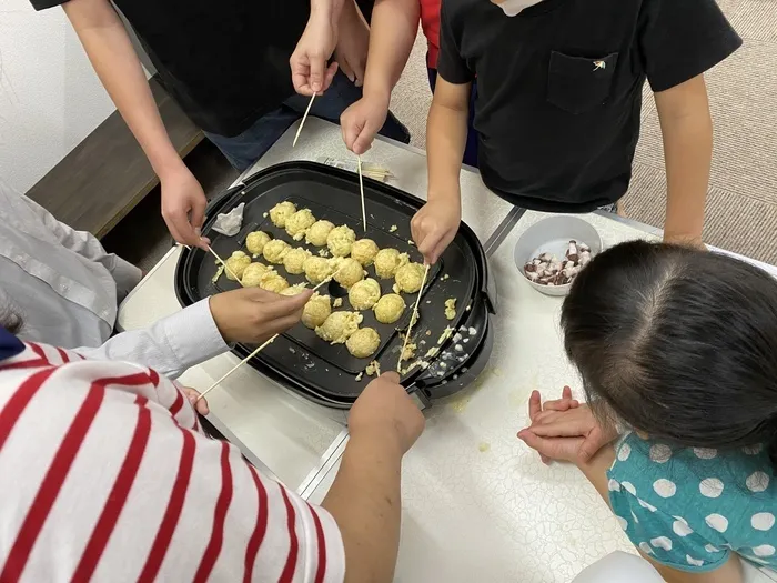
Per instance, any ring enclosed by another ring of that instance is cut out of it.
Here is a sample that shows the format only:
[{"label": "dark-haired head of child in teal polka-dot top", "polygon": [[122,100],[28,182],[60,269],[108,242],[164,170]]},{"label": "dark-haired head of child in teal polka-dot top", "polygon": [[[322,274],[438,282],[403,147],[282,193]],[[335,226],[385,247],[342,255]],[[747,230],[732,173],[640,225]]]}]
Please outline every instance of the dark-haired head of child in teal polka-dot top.
[{"label": "dark-haired head of child in teal polka-dot top", "polygon": [[686,446],[777,461],[777,281],[735,259],[633,241],[575,280],[562,326],[588,400]]}]

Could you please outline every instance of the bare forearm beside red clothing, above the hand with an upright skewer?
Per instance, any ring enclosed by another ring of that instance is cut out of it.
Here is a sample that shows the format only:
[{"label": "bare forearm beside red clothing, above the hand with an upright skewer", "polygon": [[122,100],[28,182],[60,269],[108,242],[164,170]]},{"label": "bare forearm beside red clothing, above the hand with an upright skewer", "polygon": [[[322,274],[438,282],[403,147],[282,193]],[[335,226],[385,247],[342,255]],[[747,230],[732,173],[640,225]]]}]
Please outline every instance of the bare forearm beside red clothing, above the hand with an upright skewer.
[{"label": "bare forearm beside red clothing, above the hand with an upright skewer", "polygon": [[421,10],[417,0],[377,0],[372,11],[364,94],[389,101],[413,50]]}]

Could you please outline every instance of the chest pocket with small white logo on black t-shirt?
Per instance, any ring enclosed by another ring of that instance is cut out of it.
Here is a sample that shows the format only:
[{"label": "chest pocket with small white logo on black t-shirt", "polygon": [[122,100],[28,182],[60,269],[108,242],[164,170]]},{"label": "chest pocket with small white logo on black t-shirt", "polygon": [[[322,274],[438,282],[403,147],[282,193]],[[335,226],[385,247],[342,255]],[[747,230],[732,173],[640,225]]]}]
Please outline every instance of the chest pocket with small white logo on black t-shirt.
[{"label": "chest pocket with small white logo on black t-shirt", "polygon": [[607,101],[618,63],[618,53],[588,59],[551,52],[547,100],[577,115]]}]

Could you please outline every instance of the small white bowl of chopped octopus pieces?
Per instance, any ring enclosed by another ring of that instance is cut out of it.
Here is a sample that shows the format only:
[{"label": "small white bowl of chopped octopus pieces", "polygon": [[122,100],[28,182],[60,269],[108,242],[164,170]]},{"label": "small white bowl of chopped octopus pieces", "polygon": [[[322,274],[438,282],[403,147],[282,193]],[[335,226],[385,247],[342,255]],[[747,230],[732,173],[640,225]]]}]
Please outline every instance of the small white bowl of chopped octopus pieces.
[{"label": "small white bowl of chopped octopus pieces", "polygon": [[572,283],[565,285],[543,285],[531,281],[524,273],[524,265],[544,252],[563,258],[569,241],[585,243],[591,248],[591,257],[602,251],[602,238],[594,227],[571,214],[557,214],[534,223],[515,243],[515,264],[521,279],[546,295],[566,295]]}]

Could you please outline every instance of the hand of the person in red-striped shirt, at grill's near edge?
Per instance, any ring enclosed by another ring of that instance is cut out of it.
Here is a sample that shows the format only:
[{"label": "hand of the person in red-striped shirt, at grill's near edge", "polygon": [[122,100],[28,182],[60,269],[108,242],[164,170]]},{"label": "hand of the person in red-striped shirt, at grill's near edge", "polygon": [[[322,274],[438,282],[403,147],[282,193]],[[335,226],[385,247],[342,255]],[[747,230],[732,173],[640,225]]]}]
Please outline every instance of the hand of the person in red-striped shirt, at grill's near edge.
[{"label": "hand of the person in red-striped shirt, at grill's near edge", "polygon": [[362,391],[351,408],[349,431],[353,439],[374,435],[395,440],[401,454],[410,450],[424,431],[423,413],[400,384],[400,375],[386,372]]}]

